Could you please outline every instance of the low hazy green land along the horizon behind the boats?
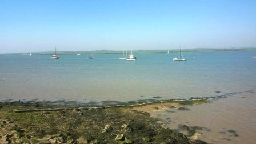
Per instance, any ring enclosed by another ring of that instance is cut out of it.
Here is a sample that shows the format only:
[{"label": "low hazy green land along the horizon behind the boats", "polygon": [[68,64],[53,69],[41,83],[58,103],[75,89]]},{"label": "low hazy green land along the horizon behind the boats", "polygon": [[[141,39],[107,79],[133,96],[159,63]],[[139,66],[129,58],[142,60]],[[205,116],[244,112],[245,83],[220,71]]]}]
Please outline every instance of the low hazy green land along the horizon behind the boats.
[{"label": "low hazy green land along the horizon behind the boats", "polygon": [[[225,49],[215,49],[215,48],[196,48],[196,49],[182,49],[182,52],[193,52],[193,51],[234,51],[234,50],[256,50],[256,47],[239,47],[239,48],[225,48]],[[134,53],[167,53],[168,50],[133,50]],[[179,49],[169,50],[170,53],[177,53]],[[123,53],[122,50],[93,50],[93,51],[58,51],[58,55],[63,54],[120,54]],[[128,51],[130,53],[130,50]],[[10,54],[29,54],[29,53],[6,53]],[[34,52],[33,55],[52,55],[55,51],[45,51],[45,52]]]}]

